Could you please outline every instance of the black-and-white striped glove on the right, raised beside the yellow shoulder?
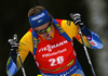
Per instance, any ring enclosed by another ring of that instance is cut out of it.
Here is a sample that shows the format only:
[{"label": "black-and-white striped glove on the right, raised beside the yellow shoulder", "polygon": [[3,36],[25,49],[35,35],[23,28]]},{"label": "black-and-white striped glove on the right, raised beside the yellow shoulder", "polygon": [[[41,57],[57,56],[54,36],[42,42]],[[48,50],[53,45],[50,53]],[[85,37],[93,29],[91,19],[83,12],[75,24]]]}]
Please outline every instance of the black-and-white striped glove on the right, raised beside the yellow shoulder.
[{"label": "black-and-white striped glove on the right, raised beside the yellow shoulder", "polygon": [[82,18],[81,18],[81,14],[79,13],[72,14],[72,21],[73,21],[73,24],[79,25],[80,28],[84,26]]}]

